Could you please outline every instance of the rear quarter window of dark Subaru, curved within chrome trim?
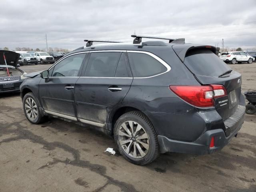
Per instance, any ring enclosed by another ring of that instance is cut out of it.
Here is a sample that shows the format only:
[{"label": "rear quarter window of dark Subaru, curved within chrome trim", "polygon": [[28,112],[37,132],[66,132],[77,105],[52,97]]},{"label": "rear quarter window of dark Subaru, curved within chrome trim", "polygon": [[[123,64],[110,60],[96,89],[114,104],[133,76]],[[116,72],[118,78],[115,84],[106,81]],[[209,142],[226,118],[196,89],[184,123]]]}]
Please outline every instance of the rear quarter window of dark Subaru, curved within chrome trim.
[{"label": "rear quarter window of dark Subaru, curved within chrome trim", "polygon": [[166,67],[152,56],[144,53],[128,53],[134,77],[149,77],[165,72]]}]

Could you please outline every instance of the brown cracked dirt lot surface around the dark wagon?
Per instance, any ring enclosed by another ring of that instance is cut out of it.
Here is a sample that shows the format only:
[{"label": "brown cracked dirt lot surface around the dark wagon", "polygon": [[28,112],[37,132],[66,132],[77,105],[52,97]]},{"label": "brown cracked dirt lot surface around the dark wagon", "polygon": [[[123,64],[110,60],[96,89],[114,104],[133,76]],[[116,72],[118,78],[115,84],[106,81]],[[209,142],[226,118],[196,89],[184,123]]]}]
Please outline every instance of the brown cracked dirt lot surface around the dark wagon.
[{"label": "brown cracked dirt lot surface around the dark wagon", "polygon": [[[256,63],[230,67],[242,73],[243,90],[256,90]],[[148,166],[104,152],[114,142],[92,127],[53,118],[30,124],[19,94],[0,96],[0,114],[0,192],[256,192],[256,114],[246,114],[238,137],[220,152],[162,154]]]}]

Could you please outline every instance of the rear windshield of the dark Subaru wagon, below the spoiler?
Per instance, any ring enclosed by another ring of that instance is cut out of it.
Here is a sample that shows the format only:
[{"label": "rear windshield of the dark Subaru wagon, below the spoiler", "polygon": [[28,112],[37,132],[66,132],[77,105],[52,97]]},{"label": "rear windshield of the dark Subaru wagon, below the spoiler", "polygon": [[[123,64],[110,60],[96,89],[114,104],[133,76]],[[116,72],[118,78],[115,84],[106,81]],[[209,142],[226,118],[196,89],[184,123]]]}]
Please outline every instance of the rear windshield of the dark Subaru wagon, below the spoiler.
[{"label": "rear windshield of the dark Subaru wagon, below the spoiler", "polygon": [[208,49],[193,49],[186,54],[184,64],[194,73],[200,76],[218,77],[230,70],[216,54]]}]

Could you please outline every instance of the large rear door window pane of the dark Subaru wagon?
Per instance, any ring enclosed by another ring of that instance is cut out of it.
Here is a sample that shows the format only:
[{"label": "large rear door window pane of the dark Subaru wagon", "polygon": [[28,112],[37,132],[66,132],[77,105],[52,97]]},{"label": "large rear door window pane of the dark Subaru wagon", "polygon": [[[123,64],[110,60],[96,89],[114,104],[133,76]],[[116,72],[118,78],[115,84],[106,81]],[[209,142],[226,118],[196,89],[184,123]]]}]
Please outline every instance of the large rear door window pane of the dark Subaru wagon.
[{"label": "large rear door window pane of the dark Subaru wagon", "polygon": [[95,52],[88,61],[86,77],[114,77],[120,52]]}]

